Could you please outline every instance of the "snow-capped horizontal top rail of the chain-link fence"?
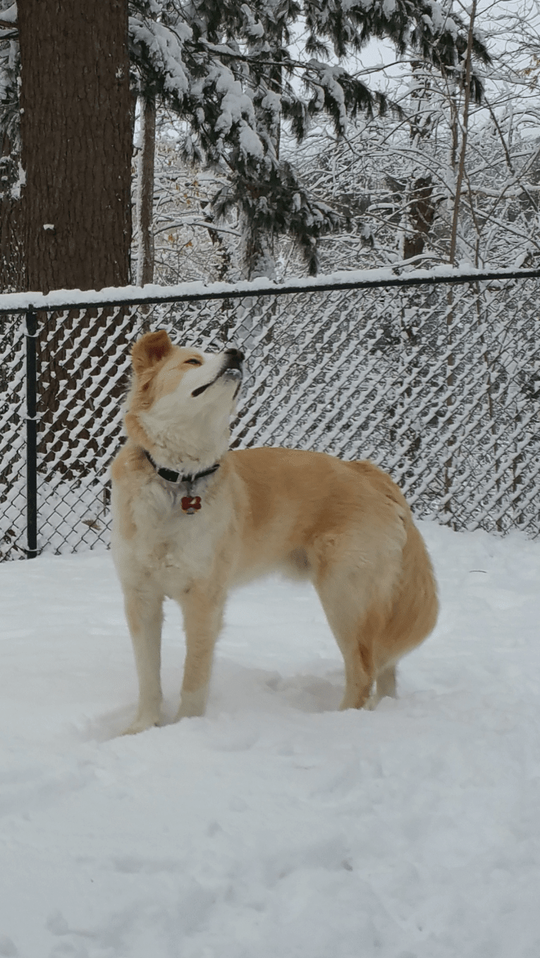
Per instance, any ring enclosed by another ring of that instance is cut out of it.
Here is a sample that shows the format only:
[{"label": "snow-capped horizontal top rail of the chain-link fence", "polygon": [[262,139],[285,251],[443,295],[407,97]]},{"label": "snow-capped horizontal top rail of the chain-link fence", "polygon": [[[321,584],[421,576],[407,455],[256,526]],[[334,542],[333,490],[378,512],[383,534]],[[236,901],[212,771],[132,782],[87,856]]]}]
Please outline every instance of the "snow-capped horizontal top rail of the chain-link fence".
[{"label": "snow-capped horizontal top rail of the chain-link fence", "polygon": [[380,269],[341,270],[326,275],[274,283],[266,277],[240,283],[205,285],[181,283],[172,286],[109,286],[101,290],[56,289],[50,293],[0,294],[0,315],[17,312],[54,312],[65,309],[143,306],[156,303],[193,302],[210,299],[241,299],[246,296],[281,296],[287,293],[328,292],[334,289],[368,289],[377,286],[417,286],[479,283],[494,280],[540,279],[540,269],[474,269],[450,265],[416,269],[396,274],[397,266]]}]

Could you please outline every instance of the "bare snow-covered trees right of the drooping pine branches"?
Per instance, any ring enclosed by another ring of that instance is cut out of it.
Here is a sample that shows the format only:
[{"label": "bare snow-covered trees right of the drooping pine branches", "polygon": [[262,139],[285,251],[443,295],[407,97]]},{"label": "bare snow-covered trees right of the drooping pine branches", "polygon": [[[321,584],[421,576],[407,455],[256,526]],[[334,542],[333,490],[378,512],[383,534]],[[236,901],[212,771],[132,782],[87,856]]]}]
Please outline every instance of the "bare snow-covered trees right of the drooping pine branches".
[{"label": "bare snow-covered trees right of the drooping pine branches", "polygon": [[529,7],[501,7],[495,22],[491,10],[480,18],[498,51],[466,117],[464,90],[415,60],[393,80],[401,116],[359,118],[341,141],[327,126],[305,140],[297,163],[313,192],[349,210],[349,229],[321,243],[325,270],[448,262],[454,227],[461,262],[539,261],[540,15],[526,18]]}]

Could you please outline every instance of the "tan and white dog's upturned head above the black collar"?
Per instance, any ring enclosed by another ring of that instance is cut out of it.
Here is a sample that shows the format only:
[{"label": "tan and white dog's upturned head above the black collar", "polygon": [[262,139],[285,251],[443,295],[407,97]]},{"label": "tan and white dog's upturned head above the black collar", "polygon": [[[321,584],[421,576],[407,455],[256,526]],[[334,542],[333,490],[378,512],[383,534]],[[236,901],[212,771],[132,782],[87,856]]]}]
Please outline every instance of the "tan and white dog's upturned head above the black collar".
[{"label": "tan and white dog's upturned head above the black collar", "polygon": [[173,346],[160,330],[135,343],[131,360],[127,434],[160,466],[205,468],[216,462],[229,445],[243,354]]}]

